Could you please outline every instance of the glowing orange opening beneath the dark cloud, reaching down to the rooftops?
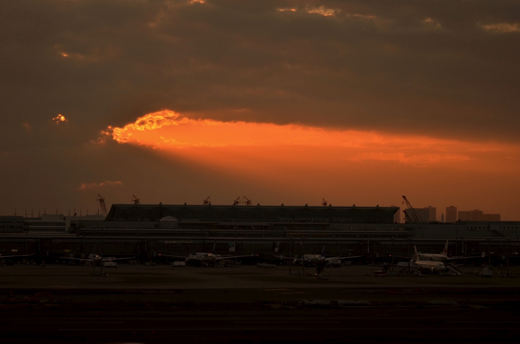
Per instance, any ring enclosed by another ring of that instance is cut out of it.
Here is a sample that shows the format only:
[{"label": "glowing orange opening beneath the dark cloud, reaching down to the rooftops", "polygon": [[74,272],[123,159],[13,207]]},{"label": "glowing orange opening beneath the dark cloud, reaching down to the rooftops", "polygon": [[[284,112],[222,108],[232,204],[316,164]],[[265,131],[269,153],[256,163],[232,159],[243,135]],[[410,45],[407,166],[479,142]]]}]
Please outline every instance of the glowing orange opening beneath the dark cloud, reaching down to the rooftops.
[{"label": "glowing orange opening beneath the dark cloud, reaching down to the rooftops", "polygon": [[[500,204],[509,212],[506,217],[513,219],[517,214],[512,195],[520,190],[520,147],[509,143],[300,124],[222,122],[169,110],[104,133],[103,138],[187,162],[215,180],[231,177],[236,185],[227,184],[227,188],[242,193],[245,186],[243,192],[255,200],[298,204],[325,196],[336,205],[383,201],[399,205],[400,195],[406,194],[415,206],[437,202],[444,207],[458,202],[467,209],[500,212]],[[207,188],[215,186],[210,183]],[[254,188],[262,191],[248,191]]]}]

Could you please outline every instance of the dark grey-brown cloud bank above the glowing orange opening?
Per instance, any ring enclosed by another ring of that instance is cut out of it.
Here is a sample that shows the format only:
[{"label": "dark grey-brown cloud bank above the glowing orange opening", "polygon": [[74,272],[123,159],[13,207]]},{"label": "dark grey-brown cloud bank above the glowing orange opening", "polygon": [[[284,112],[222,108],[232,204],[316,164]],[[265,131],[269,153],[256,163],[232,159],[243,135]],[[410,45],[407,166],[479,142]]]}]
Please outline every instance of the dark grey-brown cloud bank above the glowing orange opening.
[{"label": "dark grey-brown cloud bank above the glowing orange opening", "polygon": [[[518,8],[485,0],[5,2],[0,154],[20,169],[36,159],[50,179],[52,162],[71,190],[119,181],[120,167],[97,173],[96,154],[80,152],[108,125],[164,108],[518,141]],[[67,123],[56,125],[58,114]],[[63,172],[73,164],[76,176]]]}]

